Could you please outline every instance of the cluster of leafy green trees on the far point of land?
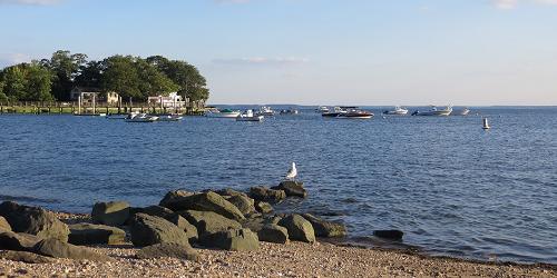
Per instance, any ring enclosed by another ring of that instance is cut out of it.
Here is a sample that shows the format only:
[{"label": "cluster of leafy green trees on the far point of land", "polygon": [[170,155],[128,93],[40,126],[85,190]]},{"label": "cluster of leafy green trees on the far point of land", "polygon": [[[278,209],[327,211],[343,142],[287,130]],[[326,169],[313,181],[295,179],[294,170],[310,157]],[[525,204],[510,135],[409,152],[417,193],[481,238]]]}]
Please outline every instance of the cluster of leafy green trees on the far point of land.
[{"label": "cluster of leafy green trees on the far point of land", "polygon": [[88,61],[87,54],[59,50],[50,59],[0,70],[0,101],[68,101],[75,87],[115,91],[124,100],[178,92],[195,101],[207,100],[206,86],[196,67],[162,56],[117,54]]}]

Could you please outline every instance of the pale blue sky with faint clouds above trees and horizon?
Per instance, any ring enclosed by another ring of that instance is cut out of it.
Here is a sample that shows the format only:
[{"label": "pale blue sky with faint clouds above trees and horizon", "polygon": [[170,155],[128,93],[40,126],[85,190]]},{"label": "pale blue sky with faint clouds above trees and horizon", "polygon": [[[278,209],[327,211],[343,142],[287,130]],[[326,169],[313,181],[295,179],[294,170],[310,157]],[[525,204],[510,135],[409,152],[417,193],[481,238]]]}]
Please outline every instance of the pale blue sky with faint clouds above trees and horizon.
[{"label": "pale blue sky with faint clouds above trees and horizon", "polygon": [[0,67],[162,54],[209,103],[557,105],[557,0],[0,0]]}]

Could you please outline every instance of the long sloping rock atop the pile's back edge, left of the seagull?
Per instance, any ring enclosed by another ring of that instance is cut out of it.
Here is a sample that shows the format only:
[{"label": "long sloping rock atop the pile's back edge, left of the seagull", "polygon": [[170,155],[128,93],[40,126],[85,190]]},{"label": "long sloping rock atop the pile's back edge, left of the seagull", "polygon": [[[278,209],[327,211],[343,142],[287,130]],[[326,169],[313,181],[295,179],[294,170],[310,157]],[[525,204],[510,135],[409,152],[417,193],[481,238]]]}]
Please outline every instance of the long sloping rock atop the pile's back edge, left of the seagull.
[{"label": "long sloping rock atop the pile's back edge, left of the seagull", "polygon": [[244,215],[242,215],[242,212],[236,208],[236,206],[232,205],[222,196],[211,191],[204,193],[196,193],[187,197],[178,197],[166,207],[174,211],[179,211],[179,210],[213,211],[229,219],[234,220],[244,219]]}]

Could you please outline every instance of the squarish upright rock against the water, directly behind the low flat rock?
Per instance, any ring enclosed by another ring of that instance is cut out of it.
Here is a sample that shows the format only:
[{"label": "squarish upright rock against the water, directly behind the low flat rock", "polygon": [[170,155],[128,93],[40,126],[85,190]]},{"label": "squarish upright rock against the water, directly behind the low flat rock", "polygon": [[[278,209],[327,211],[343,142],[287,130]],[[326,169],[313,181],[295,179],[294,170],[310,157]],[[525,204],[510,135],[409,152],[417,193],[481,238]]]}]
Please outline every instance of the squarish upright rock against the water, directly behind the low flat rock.
[{"label": "squarish upright rock against the water, directly behind the low flat rock", "polygon": [[129,217],[129,203],[126,201],[97,202],[92,206],[91,218],[97,224],[121,226]]}]

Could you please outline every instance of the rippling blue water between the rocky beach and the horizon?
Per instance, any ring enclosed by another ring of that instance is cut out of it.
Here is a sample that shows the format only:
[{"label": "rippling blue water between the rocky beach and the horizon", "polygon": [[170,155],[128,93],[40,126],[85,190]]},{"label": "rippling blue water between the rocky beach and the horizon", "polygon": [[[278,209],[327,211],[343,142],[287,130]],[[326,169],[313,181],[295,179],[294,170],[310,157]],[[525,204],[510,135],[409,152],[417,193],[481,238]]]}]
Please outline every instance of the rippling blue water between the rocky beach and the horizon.
[{"label": "rippling blue water between the rocky beach and the horizon", "polygon": [[99,200],[144,206],[177,188],[274,186],[295,161],[310,198],[292,206],[344,220],[353,237],[394,228],[430,254],[557,264],[557,108],[472,112],[492,129],[479,116],[126,123],[4,115],[0,199],[75,212]]}]

